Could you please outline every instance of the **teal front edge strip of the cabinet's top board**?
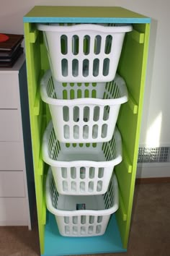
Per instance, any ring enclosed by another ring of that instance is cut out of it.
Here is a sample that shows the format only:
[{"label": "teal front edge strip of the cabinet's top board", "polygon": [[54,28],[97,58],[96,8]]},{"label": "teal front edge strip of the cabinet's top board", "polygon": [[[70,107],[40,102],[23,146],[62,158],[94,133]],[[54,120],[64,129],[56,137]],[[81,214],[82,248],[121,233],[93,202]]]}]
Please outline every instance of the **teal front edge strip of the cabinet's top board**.
[{"label": "teal front edge strip of the cabinet's top board", "polygon": [[151,18],[117,18],[117,17],[24,17],[30,23],[151,23]]}]

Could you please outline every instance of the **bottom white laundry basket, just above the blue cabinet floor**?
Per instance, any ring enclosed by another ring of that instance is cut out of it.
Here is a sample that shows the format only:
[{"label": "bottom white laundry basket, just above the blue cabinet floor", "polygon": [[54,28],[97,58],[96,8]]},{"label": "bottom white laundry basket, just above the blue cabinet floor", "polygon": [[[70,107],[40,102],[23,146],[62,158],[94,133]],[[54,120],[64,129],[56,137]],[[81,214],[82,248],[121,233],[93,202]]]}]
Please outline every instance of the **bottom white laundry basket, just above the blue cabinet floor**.
[{"label": "bottom white laundry basket, just above the blue cabinet floor", "polygon": [[107,229],[111,214],[118,209],[117,178],[115,174],[112,176],[104,195],[60,195],[49,169],[46,205],[50,213],[55,215],[62,236],[101,236]]}]

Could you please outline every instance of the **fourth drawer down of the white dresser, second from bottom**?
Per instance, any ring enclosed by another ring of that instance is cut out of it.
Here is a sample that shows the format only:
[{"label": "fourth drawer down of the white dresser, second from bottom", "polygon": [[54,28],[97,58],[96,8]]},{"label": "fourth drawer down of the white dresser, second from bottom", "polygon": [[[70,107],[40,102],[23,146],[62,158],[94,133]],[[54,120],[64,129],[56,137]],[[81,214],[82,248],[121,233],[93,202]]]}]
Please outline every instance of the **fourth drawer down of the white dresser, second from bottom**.
[{"label": "fourth drawer down of the white dresser, second from bottom", "polygon": [[24,197],[22,171],[0,171],[0,197]]}]

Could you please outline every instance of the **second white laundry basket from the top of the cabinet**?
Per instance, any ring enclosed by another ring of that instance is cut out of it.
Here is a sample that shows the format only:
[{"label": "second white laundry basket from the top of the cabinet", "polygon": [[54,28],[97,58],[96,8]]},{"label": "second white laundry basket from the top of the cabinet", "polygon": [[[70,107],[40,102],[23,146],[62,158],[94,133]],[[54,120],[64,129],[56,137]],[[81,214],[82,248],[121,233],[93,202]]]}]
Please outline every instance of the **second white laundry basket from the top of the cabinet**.
[{"label": "second white laundry basket from the top of the cabinet", "polygon": [[118,74],[107,83],[61,83],[45,72],[40,85],[61,142],[106,142],[112,139],[122,103],[128,101]]}]

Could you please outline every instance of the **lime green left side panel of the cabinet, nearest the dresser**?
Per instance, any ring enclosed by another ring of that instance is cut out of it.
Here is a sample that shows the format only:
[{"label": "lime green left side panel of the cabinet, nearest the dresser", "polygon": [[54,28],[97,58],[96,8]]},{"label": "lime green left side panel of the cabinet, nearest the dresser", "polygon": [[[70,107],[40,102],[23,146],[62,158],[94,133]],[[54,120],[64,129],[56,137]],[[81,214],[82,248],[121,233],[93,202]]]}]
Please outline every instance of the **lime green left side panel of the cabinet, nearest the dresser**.
[{"label": "lime green left side panel of the cabinet, nearest the dresser", "polygon": [[42,221],[44,204],[44,176],[43,162],[41,156],[41,142],[43,132],[43,108],[40,101],[40,77],[41,55],[40,36],[34,24],[24,23],[24,38],[27,57],[27,86],[30,109],[30,128],[32,137],[32,156],[35,176],[35,194],[37,201],[37,219],[40,236],[41,254],[44,251],[44,231],[45,226]]}]

